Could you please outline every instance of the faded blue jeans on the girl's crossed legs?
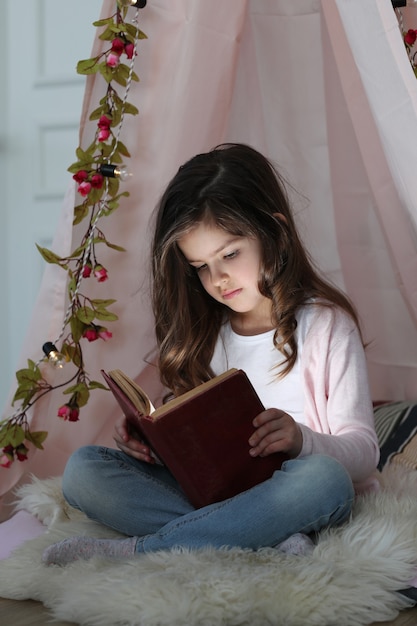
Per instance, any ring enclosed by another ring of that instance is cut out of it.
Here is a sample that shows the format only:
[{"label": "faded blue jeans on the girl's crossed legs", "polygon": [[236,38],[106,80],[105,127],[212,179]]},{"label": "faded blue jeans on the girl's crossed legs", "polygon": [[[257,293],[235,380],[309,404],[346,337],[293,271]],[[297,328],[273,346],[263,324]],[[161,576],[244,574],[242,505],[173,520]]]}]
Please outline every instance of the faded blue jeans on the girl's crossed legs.
[{"label": "faded blue jeans on the girl's crossed legs", "polygon": [[354,498],[344,467],[312,455],[286,461],[269,480],[233,498],[195,509],[165,467],[99,446],[70,457],[63,491],[89,518],[138,537],[138,553],[273,546],[296,532],[340,524]]}]

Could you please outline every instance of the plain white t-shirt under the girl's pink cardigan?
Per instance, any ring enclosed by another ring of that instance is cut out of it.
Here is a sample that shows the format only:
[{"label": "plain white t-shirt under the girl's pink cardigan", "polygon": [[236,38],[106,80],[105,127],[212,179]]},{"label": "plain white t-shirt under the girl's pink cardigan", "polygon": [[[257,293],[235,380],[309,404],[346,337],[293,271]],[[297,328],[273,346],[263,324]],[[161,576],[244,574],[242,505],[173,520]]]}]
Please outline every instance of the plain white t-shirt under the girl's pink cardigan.
[{"label": "plain white t-shirt under the girl's pink cardigan", "polygon": [[277,378],[284,357],[273,344],[273,330],[248,337],[238,335],[227,323],[220,331],[211,361],[215,374],[221,374],[231,367],[242,369],[266,409],[282,409],[300,424],[305,423],[300,357],[303,338],[308,330],[308,311],[303,308],[297,315],[298,358],[284,378]]}]

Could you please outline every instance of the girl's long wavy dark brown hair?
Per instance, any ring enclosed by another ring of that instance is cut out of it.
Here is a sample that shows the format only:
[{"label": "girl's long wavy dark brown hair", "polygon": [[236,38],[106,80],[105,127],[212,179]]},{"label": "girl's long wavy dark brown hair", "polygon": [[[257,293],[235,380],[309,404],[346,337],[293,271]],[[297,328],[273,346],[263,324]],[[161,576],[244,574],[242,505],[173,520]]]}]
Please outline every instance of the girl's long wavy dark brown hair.
[{"label": "girl's long wavy dark brown hair", "polygon": [[285,358],[281,375],[297,359],[296,311],[311,298],[341,307],[359,326],[348,298],[319,275],[304,249],[281,176],[253,148],[223,144],[180,167],[156,215],[152,303],[161,380],[175,395],[213,376],[210,361],[228,316],[178,247],[207,220],[261,244],[259,290],[272,301],[274,343]]}]

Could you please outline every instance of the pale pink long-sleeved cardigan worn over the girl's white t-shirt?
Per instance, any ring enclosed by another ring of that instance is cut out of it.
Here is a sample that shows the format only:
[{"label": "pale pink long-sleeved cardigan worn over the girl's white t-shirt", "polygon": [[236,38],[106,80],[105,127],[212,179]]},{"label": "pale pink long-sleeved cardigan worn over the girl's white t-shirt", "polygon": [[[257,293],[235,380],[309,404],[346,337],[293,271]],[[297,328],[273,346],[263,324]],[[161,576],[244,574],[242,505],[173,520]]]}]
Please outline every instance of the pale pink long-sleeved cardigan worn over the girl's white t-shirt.
[{"label": "pale pink long-sleeved cardigan worn over the girl's white t-shirt", "polygon": [[336,308],[307,309],[313,313],[301,338],[306,425],[301,425],[300,456],[332,456],[348,470],[357,491],[377,488],[379,446],[359,332]]}]

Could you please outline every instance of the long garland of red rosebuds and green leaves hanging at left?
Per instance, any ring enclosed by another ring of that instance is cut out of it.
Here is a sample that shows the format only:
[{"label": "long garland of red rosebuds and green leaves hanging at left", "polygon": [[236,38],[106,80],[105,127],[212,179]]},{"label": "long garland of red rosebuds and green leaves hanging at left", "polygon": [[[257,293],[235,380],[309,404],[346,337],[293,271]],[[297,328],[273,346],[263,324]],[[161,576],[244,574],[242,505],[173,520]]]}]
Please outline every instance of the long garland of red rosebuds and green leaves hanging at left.
[{"label": "long garland of red rosebuds and green leaves hanging at left", "polygon": [[[74,208],[73,224],[83,220],[88,226],[81,242],[68,257],[60,257],[51,250],[38,247],[47,263],[59,265],[67,272],[67,293],[69,305],[64,316],[60,336],[52,343],[43,346],[45,357],[34,362],[28,359],[27,367],[16,372],[17,389],[12,406],[19,402],[19,409],[10,417],[0,422],[0,466],[8,468],[15,460],[28,458],[31,444],[43,449],[46,431],[31,431],[28,411],[46,394],[61,388],[69,396],[67,402],[57,411],[63,420],[78,421],[80,408],[85,406],[94,389],[106,389],[98,381],[91,380],[84,363],[83,341],[108,341],[112,332],[106,324],[117,320],[117,315],[109,310],[113,299],[91,299],[81,291],[82,283],[95,278],[99,283],[108,279],[107,269],[100,263],[100,244],[123,251],[123,248],[110,243],[103,231],[98,228],[102,217],[112,214],[120,204],[122,197],[129,195],[120,191],[120,180],[124,179],[126,166],[124,159],[130,156],[128,149],[120,140],[120,132],[126,114],[137,115],[138,109],[127,101],[131,82],[138,77],[133,71],[137,55],[137,43],[146,35],[138,28],[139,8],[146,3],[137,3],[135,18],[126,21],[128,8],[123,0],[116,3],[115,13],[106,19],[94,22],[102,29],[99,39],[109,42],[109,48],[97,57],[79,61],[79,74],[101,74],[107,83],[106,93],[99,106],[90,114],[90,120],[97,120],[94,141],[90,146],[76,150],[77,160],[68,171],[73,174],[81,202]],[[128,64],[124,61],[127,60]],[[115,86],[124,88],[120,97]],[[60,343],[59,351],[55,344]],[[51,357],[53,355],[53,357]],[[68,380],[52,385],[47,380],[47,361],[61,367],[65,362],[72,362],[75,367]]]}]

